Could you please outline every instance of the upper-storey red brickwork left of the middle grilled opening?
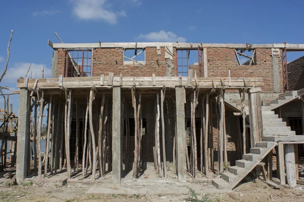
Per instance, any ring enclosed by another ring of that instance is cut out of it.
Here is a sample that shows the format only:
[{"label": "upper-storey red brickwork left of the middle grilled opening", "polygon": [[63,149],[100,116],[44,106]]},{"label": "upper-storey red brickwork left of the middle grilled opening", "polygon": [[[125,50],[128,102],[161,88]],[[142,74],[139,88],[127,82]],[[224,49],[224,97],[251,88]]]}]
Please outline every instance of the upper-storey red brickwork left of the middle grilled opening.
[{"label": "upper-storey red brickwork left of the middle grilled opening", "polygon": [[[177,76],[176,48],[173,48],[171,76]],[[57,77],[65,72],[64,49],[58,49]],[[145,65],[124,65],[123,48],[96,48],[93,52],[93,76],[107,75],[113,72],[114,76],[122,73],[124,76],[166,76],[168,63],[165,59],[165,49],[161,47],[161,55],[157,54],[156,47],[145,48]]]}]

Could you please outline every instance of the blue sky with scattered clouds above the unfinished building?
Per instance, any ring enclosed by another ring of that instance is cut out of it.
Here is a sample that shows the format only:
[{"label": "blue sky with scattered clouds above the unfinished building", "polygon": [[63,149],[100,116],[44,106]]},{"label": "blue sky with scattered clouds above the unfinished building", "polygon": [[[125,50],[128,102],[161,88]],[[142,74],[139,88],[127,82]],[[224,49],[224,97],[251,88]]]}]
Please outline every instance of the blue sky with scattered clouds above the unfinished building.
[{"label": "blue sky with scattered clouds above the unfinished building", "polygon": [[[16,88],[16,78],[50,76],[52,48],[63,42],[186,41],[205,43],[304,43],[304,1],[1,1],[0,71],[11,59],[1,85]],[[304,53],[289,54],[292,61]],[[7,91],[6,91],[7,92]],[[14,95],[15,109],[18,96]],[[13,98],[13,97],[11,97]],[[0,104],[3,100],[0,101]],[[2,108],[2,106],[1,106]]]}]

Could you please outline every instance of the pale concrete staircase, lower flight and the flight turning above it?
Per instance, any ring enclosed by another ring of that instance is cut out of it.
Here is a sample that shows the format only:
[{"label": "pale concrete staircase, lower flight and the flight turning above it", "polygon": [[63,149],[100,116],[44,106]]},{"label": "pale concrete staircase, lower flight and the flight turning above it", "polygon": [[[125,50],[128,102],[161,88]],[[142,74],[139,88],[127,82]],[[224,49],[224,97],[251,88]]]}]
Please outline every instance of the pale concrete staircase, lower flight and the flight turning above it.
[{"label": "pale concrete staircase, lower flight and the flight turning above it", "polygon": [[[285,96],[286,97],[286,96]],[[287,96],[288,97],[288,96]],[[273,104],[272,104],[273,105]],[[248,116],[249,109],[246,108]],[[249,120],[249,117],[247,117]],[[265,156],[277,145],[277,139],[294,139],[295,131],[286,126],[286,122],[272,111],[272,106],[262,106],[263,141],[250,148],[250,153],[236,161],[236,166],[229,167],[229,172],[221,174],[212,184],[218,189],[233,189]]]}]

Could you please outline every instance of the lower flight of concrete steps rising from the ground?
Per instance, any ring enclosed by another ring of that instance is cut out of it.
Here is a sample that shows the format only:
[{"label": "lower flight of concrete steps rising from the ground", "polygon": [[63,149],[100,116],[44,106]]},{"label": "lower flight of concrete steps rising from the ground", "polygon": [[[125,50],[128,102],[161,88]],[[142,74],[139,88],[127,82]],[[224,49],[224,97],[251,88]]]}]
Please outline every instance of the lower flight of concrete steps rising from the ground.
[{"label": "lower flight of concrete steps rising from the ground", "polygon": [[221,178],[213,179],[212,184],[218,189],[233,189],[276,145],[277,142],[257,142],[249,154],[236,161],[236,166],[228,167],[229,172],[222,173]]}]

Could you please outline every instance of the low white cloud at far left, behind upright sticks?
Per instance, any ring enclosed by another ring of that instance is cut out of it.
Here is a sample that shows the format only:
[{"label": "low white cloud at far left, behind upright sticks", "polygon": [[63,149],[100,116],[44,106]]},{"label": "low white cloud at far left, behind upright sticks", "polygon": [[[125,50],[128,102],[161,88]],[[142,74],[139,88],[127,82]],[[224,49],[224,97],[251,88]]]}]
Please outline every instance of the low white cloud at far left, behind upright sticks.
[{"label": "low white cloud at far left, behind upright sticks", "polygon": [[[30,63],[15,63],[13,67],[9,67],[6,75],[3,78],[3,85],[5,83],[17,83],[19,77],[25,77],[26,72],[29,68]],[[31,64],[31,69],[29,70],[27,77],[30,78],[30,73],[32,72],[32,78],[41,78],[42,76],[42,66],[44,66],[44,77],[50,78],[52,76],[52,70],[47,68],[43,64]]]}]

